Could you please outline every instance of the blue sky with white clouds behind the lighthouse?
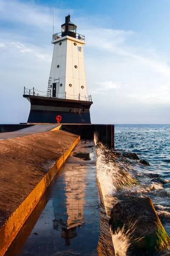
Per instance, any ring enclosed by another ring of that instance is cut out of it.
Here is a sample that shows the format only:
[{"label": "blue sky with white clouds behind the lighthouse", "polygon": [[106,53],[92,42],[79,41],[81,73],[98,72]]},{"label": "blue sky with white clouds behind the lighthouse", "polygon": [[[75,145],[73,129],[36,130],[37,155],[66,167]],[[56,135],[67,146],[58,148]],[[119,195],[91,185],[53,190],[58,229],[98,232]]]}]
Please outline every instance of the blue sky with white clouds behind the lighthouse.
[{"label": "blue sky with white clouds behind the lighthouse", "polygon": [[65,16],[85,35],[91,122],[170,124],[169,0],[0,0],[0,123],[27,122],[23,88],[46,91]]}]

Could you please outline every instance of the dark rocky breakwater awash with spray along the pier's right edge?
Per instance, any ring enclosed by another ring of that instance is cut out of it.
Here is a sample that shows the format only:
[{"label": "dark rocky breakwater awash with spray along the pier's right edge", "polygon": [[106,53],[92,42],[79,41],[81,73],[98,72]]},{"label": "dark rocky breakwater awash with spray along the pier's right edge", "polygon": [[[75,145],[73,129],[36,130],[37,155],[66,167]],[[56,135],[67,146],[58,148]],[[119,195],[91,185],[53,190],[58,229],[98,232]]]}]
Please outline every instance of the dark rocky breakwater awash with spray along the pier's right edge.
[{"label": "dark rocky breakwater awash with spray along the pier's right edge", "polygon": [[116,256],[166,253],[170,249],[170,238],[146,195],[153,185],[161,184],[160,179],[155,178],[154,183],[145,188],[147,185],[141,184],[134,174],[139,165],[149,166],[146,160],[140,160],[135,153],[109,150],[100,143],[96,151],[97,177],[107,215],[111,216],[109,224]]}]

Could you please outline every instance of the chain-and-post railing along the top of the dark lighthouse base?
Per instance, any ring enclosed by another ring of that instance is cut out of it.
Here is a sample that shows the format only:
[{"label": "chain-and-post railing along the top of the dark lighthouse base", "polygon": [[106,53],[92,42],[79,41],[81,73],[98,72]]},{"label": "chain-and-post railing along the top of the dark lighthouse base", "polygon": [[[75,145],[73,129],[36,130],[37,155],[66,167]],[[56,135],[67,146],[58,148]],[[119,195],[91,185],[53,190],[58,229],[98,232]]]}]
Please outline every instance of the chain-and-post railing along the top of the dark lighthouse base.
[{"label": "chain-and-post railing along the top of the dark lighthouse base", "polygon": [[[50,89],[48,89],[48,91],[39,91],[34,89],[34,87],[32,89],[27,89],[24,86],[24,95],[32,95],[32,96],[41,96],[41,97],[52,97],[52,91]],[[63,93],[56,93],[56,97],[52,97],[52,98],[58,98],[58,99],[73,99],[73,100],[79,100],[79,101],[89,101],[92,102],[91,99],[91,95],[88,96],[82,96],[79,94],[75,94],[75,95],[71,95],[69,93],[63,92]]]}]

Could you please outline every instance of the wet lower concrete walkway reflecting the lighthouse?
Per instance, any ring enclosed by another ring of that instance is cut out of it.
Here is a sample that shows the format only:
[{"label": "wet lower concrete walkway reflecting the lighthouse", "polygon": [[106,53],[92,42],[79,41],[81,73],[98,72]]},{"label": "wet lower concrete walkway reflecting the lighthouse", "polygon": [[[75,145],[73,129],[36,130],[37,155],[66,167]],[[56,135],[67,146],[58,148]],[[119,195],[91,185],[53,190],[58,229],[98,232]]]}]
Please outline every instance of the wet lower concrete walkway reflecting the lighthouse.
[{"label": "wet lower concrete walkway reflecting the lighthouse", "polygon": [[94,142],[80,140],[5,256],[102,255],[100,203]]}]

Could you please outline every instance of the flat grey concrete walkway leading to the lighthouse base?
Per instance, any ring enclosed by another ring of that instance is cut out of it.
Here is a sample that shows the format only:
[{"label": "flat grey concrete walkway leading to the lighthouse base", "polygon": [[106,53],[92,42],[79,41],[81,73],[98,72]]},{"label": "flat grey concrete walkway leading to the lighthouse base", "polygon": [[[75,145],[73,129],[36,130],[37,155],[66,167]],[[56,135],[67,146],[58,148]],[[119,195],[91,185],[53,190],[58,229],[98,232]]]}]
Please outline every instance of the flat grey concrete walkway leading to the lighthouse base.
[{"label": "flat grey concrete walkway leading to the lighthouse base", "polygon": [[11,138],[23,137],[32,134],[39,134],[46,131],[51,131],[56,128],[57,124],[52,125],[33,125],[27,128],[20,129],[18,131],[3,132],[0,133],[0,140],[7,140]]}]

